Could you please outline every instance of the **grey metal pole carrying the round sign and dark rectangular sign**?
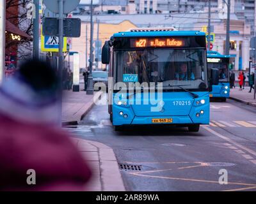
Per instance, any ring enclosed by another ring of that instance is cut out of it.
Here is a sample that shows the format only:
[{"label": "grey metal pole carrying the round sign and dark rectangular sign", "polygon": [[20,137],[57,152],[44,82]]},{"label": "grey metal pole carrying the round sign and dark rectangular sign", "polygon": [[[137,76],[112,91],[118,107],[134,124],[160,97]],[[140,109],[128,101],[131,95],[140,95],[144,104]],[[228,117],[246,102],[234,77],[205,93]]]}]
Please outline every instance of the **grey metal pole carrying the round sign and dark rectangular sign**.
[{"label": "grey metal pole carrying the round sign and dark rectangular sign", "polygon": [[[60,118],[62,115],[62,90],[63,90],[63,78],[62,78],[62,70],[63,70],[63,0],[59,0],[59,60],[58,60],[58,75],[60,80]],[[61,120],[60,120],[61,123]]]}]

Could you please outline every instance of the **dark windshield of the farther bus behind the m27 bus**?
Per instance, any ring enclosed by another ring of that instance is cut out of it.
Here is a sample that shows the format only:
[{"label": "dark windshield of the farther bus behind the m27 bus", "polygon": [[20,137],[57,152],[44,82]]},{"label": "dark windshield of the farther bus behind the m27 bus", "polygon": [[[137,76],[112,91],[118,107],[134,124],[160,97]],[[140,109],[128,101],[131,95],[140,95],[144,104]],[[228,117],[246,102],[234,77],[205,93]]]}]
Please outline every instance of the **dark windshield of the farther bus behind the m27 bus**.
[{"label": "dark windshield of the farther bus behind the m27 bus", "polygon": [[219,77],[220,82],[229,82],[228,77],[228,62],[222,61],[222,62],[209,62],[208,68],[211,70],[212,68],[219,69]]}]

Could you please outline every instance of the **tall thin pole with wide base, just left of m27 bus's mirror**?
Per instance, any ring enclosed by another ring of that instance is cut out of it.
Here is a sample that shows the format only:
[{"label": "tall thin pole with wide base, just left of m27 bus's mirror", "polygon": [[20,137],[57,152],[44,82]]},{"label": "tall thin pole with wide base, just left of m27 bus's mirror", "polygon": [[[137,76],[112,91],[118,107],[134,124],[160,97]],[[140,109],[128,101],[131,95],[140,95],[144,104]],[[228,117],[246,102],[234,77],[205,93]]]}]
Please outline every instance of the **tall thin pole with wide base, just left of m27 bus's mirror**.
[{"label": "tall thin pole with wide base, just left of m27 bus's mirror", "polygon": [[91,0],[91,36],[90,36],[90,73],[88,77],[88,87],[86,94],[93,94],[93,77],[92,77],[92,65],[93,65],[93,0]]}]

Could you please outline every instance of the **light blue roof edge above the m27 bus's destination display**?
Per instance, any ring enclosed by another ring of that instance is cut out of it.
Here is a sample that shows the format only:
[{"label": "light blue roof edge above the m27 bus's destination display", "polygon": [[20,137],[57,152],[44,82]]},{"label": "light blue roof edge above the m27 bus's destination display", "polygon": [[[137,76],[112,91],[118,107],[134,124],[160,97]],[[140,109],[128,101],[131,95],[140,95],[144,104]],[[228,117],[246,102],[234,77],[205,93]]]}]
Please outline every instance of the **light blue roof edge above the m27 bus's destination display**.
[{"label": "light blue roof edge above the m27 bus's destination display", "polygon": [[200,31],[128,31],[113,34],[114,38],[120,37],[156,37],[156,36],[205,36]]}]

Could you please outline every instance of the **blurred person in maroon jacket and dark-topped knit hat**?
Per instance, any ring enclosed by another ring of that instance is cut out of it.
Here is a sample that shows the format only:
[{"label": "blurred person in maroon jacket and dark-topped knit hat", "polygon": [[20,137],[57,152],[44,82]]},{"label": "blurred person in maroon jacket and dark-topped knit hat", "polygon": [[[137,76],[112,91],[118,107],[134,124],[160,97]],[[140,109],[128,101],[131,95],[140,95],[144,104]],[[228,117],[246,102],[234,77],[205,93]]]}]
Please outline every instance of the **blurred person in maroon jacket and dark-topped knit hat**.
[{"label": "blurred person in maroon jacket and dark-topped knit hat", "polygon": [[[58,78],[48,64],[25,62],[0,87],[0,191],[84,191],[91,171],[58,127]],[[36,184],[28,185],[28,170]]]}]

